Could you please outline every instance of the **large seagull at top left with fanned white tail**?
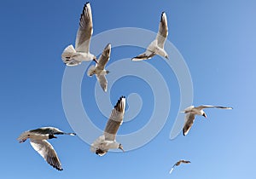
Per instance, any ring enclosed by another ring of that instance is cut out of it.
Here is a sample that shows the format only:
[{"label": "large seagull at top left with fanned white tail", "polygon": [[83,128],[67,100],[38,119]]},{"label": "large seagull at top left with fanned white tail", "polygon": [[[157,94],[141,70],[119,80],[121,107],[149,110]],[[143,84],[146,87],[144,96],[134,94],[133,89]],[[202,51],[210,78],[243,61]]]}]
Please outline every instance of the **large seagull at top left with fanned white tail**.
[{"label": "large seagull at top left with fanned white tail", "polygon": [[73,48],[73,45],[70,44],[64,49],[61,55],[62,61],[67,66],[78,66],[82,61],[96,61],[96,56],[90,54],[90,38],[92,32],[90,3],[85,3],[83,13],[80,17],[75,49]]}]

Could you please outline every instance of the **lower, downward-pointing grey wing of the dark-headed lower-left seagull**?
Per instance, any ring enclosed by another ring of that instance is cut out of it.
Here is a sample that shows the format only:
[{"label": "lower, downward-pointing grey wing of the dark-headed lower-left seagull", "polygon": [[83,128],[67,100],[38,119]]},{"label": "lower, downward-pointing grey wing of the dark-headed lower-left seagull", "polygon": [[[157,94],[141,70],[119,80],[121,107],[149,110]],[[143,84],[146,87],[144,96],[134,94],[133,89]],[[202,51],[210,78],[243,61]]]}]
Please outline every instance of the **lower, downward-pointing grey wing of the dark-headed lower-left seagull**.
[{"label": "lower, downward-pointing grey wing of the dark-headed lower-left seagull", "polygon": [[55,153],[54,147],[52,147],[48,141],[31,139],[30,144],[49,165],[52,165],[56,170],[63,170],[61,168],[61,161]]}]

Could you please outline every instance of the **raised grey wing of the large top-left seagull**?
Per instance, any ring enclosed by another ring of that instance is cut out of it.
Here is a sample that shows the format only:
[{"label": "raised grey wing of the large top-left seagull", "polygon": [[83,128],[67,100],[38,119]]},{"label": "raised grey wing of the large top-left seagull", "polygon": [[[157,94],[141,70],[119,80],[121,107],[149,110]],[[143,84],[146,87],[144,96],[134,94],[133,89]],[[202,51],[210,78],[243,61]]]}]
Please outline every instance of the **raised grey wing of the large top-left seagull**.
[{"label": "raised grey wing of the large top-left seagull", "polygon": [[90,50],[90,38],[92,35],[92,15],[90,3],[84,4],[83,13],[80,17],[79,30],[77,32],[75,49],[78,52],[88,53]]}]

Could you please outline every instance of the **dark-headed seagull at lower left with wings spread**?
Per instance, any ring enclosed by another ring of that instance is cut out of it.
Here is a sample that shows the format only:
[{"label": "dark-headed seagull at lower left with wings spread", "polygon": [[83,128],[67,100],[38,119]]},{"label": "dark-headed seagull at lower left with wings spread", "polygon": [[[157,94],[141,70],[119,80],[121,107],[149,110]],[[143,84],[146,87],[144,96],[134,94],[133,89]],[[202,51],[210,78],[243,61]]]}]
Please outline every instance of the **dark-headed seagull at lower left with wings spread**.
[{"label": "dark-headed seagull at lower left with wings spread", "polygon": [[44,158],[44,160],[52,165],[57,170],[63,170],[61,168],[61,161],[55,152],[54,147],[46,141],[48,139],[57,138],[55,135],[70,135],[75,136],[75,133],[65,133],[54,127],[43,127],[37,130],[28,130],[23,132],[17,140],[20,143],[30,138],[30,144],[32,147]]}]

